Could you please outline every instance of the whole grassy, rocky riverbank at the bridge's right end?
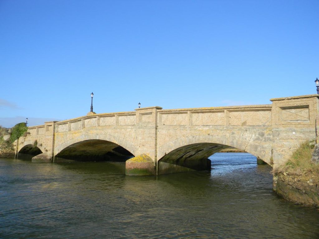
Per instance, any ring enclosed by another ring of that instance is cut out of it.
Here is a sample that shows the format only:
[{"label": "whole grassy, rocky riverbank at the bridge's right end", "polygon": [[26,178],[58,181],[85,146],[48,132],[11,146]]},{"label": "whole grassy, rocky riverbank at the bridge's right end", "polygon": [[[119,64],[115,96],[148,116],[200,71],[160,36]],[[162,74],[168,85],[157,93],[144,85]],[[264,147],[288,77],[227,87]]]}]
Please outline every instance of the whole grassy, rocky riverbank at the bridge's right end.
[{"label": "whole grassy, rocky riverbank at the bridge's right end", "polygon": [[319,207],[318,153],[319,144],[301,144],[285,165],[273,170],[273,190],[285,199]]}]

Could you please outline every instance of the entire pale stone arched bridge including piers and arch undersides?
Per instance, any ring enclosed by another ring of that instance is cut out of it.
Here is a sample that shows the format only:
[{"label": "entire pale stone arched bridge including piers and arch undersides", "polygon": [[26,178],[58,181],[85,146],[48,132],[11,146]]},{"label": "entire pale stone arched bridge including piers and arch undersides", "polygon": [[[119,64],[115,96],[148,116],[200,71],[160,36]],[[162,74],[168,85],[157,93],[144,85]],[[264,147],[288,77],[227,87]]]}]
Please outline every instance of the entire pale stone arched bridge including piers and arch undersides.
[{"label": "entire pale stone arched bridge including piers and arch undersides", "polygon": [[[269,105],[88,113],[28,127],[16,156],[33,162],[126,161],[127,174],[204,170],[207,159],[229,146],[273,167],[300,143],[317,140],[318,95],[271,99]],[[135,156],[135,157],[134,157]]]}]

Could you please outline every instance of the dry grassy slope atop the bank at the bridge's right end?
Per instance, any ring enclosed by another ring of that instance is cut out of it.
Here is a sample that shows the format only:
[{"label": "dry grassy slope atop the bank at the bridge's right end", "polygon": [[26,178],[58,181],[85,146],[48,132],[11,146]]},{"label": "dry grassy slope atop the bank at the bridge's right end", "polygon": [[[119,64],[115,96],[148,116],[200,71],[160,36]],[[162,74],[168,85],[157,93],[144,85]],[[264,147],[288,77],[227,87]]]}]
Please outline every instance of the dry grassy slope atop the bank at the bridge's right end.
[{"label": "dry grassy slope atop the bank at the bridge's right end", "polygon": [[319,163],[311,161],[314,146],[314,142],[302,143],[284,165],[274,170],[274,174],[283,173],[304,181],[312,179],[314,183],[319,184]]}]

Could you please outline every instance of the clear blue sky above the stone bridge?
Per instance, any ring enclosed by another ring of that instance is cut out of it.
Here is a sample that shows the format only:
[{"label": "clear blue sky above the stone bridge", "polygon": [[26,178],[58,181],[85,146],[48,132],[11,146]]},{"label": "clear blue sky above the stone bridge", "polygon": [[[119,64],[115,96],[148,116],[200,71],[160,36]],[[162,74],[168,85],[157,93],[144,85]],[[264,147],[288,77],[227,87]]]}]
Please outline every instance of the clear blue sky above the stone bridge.
[{"label": "clear blue sky above the stone bridge", "polygon": [[0,0],[0,125],[316,93],[319,1]]}]

